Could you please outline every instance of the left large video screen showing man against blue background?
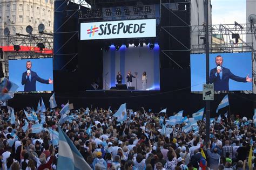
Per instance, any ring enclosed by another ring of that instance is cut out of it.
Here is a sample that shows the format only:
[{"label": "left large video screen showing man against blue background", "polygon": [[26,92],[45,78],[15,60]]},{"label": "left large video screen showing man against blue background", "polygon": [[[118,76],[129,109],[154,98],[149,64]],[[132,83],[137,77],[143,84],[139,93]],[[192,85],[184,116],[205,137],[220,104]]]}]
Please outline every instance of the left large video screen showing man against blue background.
[{"label": "left large video screen showing man against blue background", "polygon": [[9,60],[9,80],[17,91],[52,91],[52,58]]}]

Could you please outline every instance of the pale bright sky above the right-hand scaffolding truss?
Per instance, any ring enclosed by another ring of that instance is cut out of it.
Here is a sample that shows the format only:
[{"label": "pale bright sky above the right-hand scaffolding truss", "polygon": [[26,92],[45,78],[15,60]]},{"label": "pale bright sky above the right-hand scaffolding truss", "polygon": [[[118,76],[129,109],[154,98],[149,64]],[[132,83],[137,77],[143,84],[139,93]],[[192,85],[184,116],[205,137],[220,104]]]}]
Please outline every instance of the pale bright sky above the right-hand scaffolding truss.
[{"label": "pale bright sky above the right-hand scaffolding truss", "polygon": [[212,24],[246,23],[246,0],[212,0]]}]

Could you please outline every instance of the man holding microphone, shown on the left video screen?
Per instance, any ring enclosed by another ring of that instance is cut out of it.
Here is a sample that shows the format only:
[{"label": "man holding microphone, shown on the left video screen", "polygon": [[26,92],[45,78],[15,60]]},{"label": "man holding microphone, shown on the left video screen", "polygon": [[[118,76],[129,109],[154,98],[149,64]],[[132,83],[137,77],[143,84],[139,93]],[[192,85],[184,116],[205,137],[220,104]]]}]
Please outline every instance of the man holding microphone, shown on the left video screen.
[{"label": "man holding microphone, shown on the left video screen", "polygon": [[26,72],[22,74],[22,85],[24,86],[24,91],[36,91],[36,81],[39,81],[44,84],[52,84],[53,80],[51,77],[49,80],[41,79],[36,72],[31,71],[32,63],[31,61],[26,61]]}]

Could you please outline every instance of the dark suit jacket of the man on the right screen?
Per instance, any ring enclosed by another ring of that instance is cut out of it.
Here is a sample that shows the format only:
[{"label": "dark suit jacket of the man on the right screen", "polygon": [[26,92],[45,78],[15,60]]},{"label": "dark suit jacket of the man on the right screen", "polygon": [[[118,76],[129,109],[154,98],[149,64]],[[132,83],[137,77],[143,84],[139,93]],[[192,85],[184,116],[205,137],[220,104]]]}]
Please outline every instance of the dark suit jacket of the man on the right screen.
[{"label": "dark suit jacket of the man on the right screen", "polygon": [[246,77],[239,77],[230,72],[230,69],[222,67],[222,79],[220,80],[220,74],[215,75],[216,68],[211,69],[210,83],[214,84],[215,91],[229,90],[228,82],[230,79],[238,82],[246,82]]}]

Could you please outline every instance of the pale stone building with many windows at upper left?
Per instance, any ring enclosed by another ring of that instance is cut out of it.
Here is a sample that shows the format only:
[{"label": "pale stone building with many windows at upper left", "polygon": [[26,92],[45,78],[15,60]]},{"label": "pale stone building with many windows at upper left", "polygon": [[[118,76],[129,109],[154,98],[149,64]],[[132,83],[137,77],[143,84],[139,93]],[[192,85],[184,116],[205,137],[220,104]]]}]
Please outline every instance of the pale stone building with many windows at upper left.
[{"label": "pale stone building with many windows at upper left", "polygon": [[[8,27],[10,34],[27,34],[26,26],[31,25],[33,34],[38,25],[45,25],[45,32],[53,32],[53,0],[3,0],[0,1],[0,36]],[[6,40],[0,41],[6,46]]]}]

